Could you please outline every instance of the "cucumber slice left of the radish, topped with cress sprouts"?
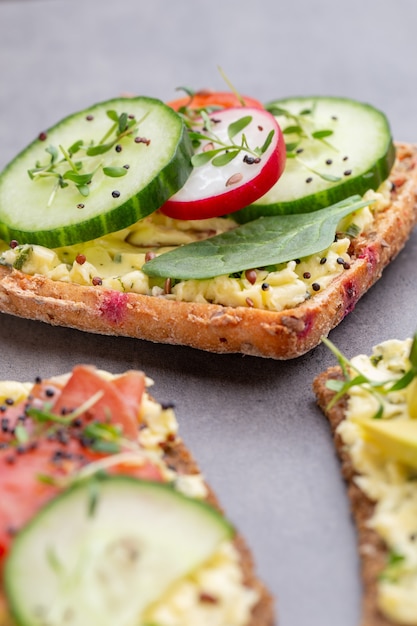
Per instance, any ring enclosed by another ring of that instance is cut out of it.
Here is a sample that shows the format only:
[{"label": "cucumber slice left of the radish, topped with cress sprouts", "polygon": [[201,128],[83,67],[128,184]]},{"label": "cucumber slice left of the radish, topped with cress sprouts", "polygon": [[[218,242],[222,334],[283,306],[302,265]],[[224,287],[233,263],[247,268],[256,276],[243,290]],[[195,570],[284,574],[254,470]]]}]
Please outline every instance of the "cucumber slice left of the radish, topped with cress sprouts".
[{"label": "cucumber slice left of the radish, topped with cress sprouts", "polygon": [[121,230],[184,185],[192,153],[182,119],[159,100],[117,98],[75,113],[0,174],[0,238],[53,248]]}]

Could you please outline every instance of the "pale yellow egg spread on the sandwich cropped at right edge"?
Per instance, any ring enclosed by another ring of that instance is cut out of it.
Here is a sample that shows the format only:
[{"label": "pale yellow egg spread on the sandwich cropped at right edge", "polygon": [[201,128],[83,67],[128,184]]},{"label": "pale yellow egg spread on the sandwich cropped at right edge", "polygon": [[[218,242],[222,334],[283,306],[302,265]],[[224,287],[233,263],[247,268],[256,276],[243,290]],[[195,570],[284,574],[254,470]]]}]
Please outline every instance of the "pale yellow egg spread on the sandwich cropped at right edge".
[{"label": "pale yellow egg spread on the sandwich cropped at right edge", "polygon": [[[411,340],[387,341],[351,364],[368,379],[391,386],[411,368],[410,347]],[[414,383],[382,395],[371,393],[367,384],[354,386],[339,426],[356,482],[375,502],[369,526],[387,546],[379,607],[393,622],[409,626],[417,624],[417,420],[409,410],[415,393]]]}]

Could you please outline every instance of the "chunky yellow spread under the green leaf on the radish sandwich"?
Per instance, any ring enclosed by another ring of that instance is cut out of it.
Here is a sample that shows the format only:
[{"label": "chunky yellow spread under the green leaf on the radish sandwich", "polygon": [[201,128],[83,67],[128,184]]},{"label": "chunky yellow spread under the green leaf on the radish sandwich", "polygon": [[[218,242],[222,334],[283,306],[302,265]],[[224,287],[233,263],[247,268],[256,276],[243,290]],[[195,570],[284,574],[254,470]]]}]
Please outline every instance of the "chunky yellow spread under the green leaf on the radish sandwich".
[{"label": "chunky yellow spread under the green leaf on the radish sandwich", "polygon": [[[339,224],[364,232],[373,213],[389,201],[388,186],[369,192],[373,204],[349,215]],[[365,196],[366,197],[366,196]],[[256,269],[205,280],[166,281],[143,271],[147,254],[161,254],[186,243],[206,239],[236,227],[231,218],[174,220],[158,211],[122,231],[82,244],[58,249],[38,245],[11,248],[0,241],[0,264],[52,280],[162,297],[185,302],[210,302],[281,311],[314,297],[349,267],[350,239],[340,234],[319,254],[294,259],[273,268]]]}]

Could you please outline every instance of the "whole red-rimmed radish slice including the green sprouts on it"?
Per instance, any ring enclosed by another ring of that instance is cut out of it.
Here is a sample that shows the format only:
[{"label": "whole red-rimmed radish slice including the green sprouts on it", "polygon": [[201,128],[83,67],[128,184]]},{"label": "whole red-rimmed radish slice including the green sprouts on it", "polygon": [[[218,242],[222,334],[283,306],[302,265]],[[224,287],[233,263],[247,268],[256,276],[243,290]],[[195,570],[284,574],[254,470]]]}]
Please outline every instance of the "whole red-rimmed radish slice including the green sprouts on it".
[{"label": "whole red-rimmed radish slice including the green sprouts on it", "polygon": [[199,143],[194,169],[162,206],[169,217],[193,220],[239,211],[263,196],[284,170],[285,142],[267,111],[216,111],[205,116],[201,130],[192,131],[191,138]]}]

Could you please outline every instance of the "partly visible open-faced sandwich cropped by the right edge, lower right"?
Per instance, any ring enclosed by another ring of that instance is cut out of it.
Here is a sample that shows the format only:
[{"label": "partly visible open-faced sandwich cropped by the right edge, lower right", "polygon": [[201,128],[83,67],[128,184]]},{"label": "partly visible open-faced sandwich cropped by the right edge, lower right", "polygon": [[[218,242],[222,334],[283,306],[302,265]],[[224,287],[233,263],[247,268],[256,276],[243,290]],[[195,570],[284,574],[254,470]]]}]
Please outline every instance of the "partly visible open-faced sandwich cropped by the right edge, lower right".
[{"label": "partly visible open-faced sandwich cropped by the right edge, lower right", "polygon": [[348,483],[363,577],[363,626],[417,624],[417,335],[314,381]]}]

